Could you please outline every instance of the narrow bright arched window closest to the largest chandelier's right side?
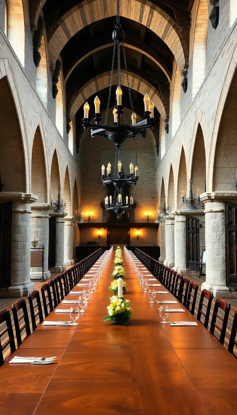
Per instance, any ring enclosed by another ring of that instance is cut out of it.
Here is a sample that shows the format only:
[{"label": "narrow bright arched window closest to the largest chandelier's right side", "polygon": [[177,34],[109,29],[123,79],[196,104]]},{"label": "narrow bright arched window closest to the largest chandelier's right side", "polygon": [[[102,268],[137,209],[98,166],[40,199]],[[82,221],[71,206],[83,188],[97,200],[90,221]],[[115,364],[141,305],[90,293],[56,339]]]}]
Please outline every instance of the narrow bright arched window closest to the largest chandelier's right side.
[{"label": "narrow bright arched window closest to the largest chandelier's right side", "polygon": [[172,137],[180,125],[181,75],[178,65],[173,67]]}]

